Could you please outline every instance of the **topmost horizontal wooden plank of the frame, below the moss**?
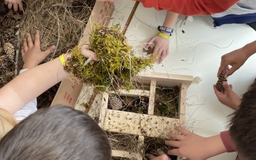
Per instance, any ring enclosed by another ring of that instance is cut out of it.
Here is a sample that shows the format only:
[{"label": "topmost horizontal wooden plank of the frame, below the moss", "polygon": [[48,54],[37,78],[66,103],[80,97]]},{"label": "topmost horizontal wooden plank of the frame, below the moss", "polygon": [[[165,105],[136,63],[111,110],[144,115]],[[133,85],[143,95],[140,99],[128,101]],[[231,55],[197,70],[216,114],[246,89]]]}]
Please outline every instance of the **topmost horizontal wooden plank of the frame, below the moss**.
[{"label": "topmost horizontal wooden plank of the frame, below the moss", "polygon": [[151,81],[157,81],[157,86],[162,87],[173,87],[182,83],[188,84],[189,86],[193,82],[193,76],[156,72],[140,72],[134,77],[134,79],[141,84],[150,84]]}]

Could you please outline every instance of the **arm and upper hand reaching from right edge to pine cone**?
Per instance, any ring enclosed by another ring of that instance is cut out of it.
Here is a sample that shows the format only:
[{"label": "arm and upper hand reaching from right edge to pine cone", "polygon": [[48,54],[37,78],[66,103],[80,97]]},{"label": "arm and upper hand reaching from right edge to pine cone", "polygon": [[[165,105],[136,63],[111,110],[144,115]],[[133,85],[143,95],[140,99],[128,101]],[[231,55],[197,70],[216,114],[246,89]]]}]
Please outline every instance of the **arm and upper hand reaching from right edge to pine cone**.
[{"label": "arm and upper hand reaching from right edge to pine cone", "polygon": [[217,76],[219,76],[221,72],[227,70],[228,65],[231,65],[232,67],[228,69],[228,71],[225,74],[225,77],[232,75],[255,52],[256,52],[256,41],[251,42],[250,44],[244,45],[244,47],[242,47],[241,49],[237,49],[235,51],[229,52],[221,56],[220,68],[218,70]]}]

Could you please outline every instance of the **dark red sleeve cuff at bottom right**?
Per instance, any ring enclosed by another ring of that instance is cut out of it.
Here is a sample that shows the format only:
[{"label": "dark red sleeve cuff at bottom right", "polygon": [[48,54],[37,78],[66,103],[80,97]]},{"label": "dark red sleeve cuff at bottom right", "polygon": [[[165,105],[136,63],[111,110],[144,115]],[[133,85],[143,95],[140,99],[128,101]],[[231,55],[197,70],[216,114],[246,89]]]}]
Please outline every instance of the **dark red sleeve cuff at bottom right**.
[{"label": "dark red sleeve cuff at bottom right", "polygon": [[[227,152],[236,152],[236,146],[230,137],[229,131],[221,132],[220,137],[227,149]],[[239,156],[237,156],[236,160],[240,160]]]}]

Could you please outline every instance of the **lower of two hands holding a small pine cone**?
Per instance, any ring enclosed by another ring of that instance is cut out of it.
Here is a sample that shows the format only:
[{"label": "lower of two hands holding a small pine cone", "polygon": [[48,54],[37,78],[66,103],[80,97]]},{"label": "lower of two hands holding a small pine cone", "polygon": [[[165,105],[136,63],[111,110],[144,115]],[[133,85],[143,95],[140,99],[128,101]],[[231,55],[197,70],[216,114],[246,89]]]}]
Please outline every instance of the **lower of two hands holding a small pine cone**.
[{"label": "lower of two hands holding a small pine cone", "polygon": [[232,90],[232,84],[228,85],[227,82],[223,82],[223,87],[225,91],[220,92],[216,88],[216,85],[213,86],[214,93],[218,97],[218,100],[225,106],[237,110],[241,103],[241,98]]}]

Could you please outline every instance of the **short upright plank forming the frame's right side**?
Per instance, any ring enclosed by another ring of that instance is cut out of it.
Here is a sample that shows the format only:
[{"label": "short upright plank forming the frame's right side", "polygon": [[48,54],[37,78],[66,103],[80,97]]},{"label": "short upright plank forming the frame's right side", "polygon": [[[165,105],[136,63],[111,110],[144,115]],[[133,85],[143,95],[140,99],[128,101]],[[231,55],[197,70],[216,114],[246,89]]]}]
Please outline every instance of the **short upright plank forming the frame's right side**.
[{"label": "short upright plank forming the frame's right side", "polygon": [[179,95],[179,116],[180,124],[185,124],[186,121],[186,108],[187,108],[187,91],[188,84],[182,83],[180,85],[180,95]]}]

